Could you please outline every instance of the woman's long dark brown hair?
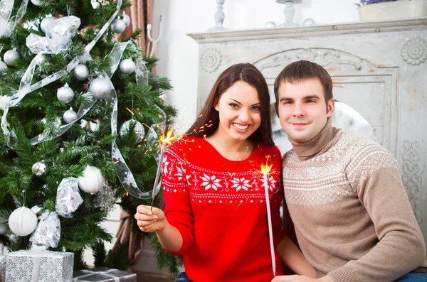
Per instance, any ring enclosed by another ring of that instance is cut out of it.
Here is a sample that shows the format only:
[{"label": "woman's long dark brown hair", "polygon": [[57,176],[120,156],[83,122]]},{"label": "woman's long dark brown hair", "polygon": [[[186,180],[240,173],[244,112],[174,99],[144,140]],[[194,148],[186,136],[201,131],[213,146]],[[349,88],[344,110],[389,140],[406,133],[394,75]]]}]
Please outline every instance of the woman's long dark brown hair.
[{"label": "woman's long dark brown hair", "polygon": [[249,140],[254,143],[263,142],[273,145],[273,134],[271,133],[270,121],[270,94],[268,86],[261,72],[248,63],[236,64],[228,67],[219,75],[214,87],[212,87],[203,109],[194,124],[186,131],[186,136],[206,136],[209,137],[219,125],[219,113],[215,109],[221,95],[228,90],[234,83],[244,81],[255,87],[260,99],[261,124],[258,129],[249,136]]}]

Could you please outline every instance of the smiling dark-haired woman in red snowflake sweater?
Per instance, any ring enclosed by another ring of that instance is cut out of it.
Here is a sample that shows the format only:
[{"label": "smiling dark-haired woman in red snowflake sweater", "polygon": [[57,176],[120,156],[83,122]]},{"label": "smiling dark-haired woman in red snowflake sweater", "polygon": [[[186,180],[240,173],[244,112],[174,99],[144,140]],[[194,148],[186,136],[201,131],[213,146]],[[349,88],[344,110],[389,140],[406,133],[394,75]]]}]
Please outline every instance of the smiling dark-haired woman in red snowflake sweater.
[{"label": "smiling dark-haired woman in red snowflake sweater", "polygon": [[[263,178],[266,163],[273,166]],[[164,153],[164,212],[141,205],[135,215],[143,232],[156,232],[166,251],[183,256],[186,272],[176,281],[272,280],[265,185],[280,259],[296,273],[315,276],[282,231],[280,167],[263,75],[251,64],[228,67],[186,137]],[[277,253],[275,261],[280,275]]]}]

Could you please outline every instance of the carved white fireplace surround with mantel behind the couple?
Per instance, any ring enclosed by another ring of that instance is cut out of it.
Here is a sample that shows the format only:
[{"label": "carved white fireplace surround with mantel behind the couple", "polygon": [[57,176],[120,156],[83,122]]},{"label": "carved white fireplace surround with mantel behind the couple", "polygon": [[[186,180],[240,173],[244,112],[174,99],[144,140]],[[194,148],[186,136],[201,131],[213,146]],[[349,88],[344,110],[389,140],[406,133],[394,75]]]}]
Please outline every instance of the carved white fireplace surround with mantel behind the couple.
[{"label": "carved white fireplace surround with mantel behind the couple", "polygon": [[[362,114],[374,129],[372,138],[399,161],[427,239],[427,18],[189,36],[199,43],[199,110],[218,75],[235,63],[258,67],[273,102],[273,82],[283,67],[295,60],[325,67],[335,99]],[[280,145],[283,131],[277,118],[272,122]]]}]

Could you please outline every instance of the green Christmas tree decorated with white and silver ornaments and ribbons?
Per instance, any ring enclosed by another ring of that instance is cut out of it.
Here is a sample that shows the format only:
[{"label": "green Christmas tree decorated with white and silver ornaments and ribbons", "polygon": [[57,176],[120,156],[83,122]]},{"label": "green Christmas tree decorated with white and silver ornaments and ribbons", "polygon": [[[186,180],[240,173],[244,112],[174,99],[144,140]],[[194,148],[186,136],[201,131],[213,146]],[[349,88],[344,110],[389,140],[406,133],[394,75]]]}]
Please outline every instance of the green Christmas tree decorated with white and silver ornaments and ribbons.
[{"label": "green Christmas tree decorated with white and silver ornaments and ribbons", "polygon": [[[127,246],[105,254],[101,227],[117,202],[130,217],[151,205],[159,136],[176,112],[163,103],[169,80],[137,45],[126,0],[1,1],[0,226],[12,251],[33,244],[82,252],[95,266],[125,269]],[[159,189],[157,189],[159,190]],[[161,192],[154,205],[161,205]],[[179,259],[151,236],[159,266]]]}]

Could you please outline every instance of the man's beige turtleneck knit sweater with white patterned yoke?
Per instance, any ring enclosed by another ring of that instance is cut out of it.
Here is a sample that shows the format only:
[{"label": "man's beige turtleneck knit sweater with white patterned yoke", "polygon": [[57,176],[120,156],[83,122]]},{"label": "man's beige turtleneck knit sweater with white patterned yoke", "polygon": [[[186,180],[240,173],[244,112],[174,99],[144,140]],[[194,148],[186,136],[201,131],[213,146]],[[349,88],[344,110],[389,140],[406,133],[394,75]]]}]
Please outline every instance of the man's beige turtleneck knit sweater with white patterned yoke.
[{"label": "man's beige turtleneck knit sweater with white patterned yoke", "polygon": [[290,140],[283,187],[302,253],[317,277],[391,282],[426,272],[426,246],[389,151],[334,129]]}]

